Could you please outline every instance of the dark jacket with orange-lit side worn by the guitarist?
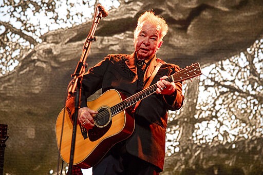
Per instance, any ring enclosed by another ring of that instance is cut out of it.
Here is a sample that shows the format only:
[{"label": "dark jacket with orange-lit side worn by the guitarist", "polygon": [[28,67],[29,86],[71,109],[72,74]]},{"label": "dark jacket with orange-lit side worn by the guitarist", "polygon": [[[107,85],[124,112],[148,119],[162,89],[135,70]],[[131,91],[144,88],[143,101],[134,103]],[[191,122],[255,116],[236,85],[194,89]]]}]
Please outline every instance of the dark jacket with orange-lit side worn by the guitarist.
[{"label": "dark jacket with orange-lit side worn by the guitarist", "polygon": [[[86,107],[86,99],[100,88],[102,92],[116,89],[126,96],[135,94],[138,80],[136,60],[136,53],[110,54],[90,68],[82,81],[81,107]],[[155,56],[147,67],[144,84],[153,73],[158,60],[160,61]],[[151,84],[155,84],[163,75],[169,76],[176,71],[179,71],[177,65],[163,62]],[[126,150],[162,170],[165,157],[167,111],[178,110],[183,104],[183,99],[182,84],[176,83],[176,92],[173,95],[154,93],[142,100],[134,113],[136,123],[134,133],[125,141]]]}]

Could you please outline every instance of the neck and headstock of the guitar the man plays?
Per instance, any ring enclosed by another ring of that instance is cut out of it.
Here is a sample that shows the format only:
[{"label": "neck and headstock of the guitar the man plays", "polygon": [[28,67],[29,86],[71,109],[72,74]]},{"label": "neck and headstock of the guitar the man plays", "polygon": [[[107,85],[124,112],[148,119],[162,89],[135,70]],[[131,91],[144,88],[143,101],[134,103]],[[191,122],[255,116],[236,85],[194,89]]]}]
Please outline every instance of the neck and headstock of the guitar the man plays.
[{"label": "neck and headstock of the guitar the man plays", "polygon": [[[168,82],[180,82],[183,80],[191,79],[192,77],[198,76],[202,74],[199,63],[195,63],[189,67],[186,67],[184,69],[181,69],[180,71],[172,74],[171,76],[168,76],[165,80]],[[147,96],[153,94],[156,92],[157,89],[157,83],[149,86],[146,89],[143,89],[142,91],[129,96],[124,101],[118,103],[115,106],[112,106],[110,108],[111,116],[114,116],[118,114],[119,112],[127,109],[128,107],[136,104],[137,102],[145,99]]]}]

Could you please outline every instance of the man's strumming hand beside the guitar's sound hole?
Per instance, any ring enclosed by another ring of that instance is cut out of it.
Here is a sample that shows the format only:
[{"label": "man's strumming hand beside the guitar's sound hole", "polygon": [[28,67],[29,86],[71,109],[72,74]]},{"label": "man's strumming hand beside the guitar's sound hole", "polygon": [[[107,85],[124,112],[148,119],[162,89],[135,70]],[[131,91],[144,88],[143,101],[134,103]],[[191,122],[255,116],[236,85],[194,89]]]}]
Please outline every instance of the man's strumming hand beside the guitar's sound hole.
[{"label": "man's strumming hand beside the guitar's sound hole", "polygon": [[97,114],[98,111],[91,110],[87,107],[79,109],[78,123],[84,126],[86,129],[94,127],[93,115]]}]

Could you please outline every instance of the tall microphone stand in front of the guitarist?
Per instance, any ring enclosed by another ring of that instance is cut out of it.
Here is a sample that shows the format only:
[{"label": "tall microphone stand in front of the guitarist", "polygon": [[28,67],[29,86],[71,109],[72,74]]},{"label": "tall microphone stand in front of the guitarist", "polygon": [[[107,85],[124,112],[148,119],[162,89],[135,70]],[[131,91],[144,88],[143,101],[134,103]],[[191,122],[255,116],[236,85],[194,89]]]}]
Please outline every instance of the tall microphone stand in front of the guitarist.
[{"label": "tall microphone stand in front of the guitarist", "polygon": [[[71,175],[72,173],[72,166],[73,166],[73,158],[74,158],[74,149],[75,149],[75,143],[76,143],[76,132],[77,132],[77,119],[78,119],[78,111],[80,108],[80,100],[81,100],[81,84],[83,79],[83,74],[85,73],[85,68],[87,67],[87,56],[88,52],[90,50],[91,42],[96,41],[96,37],[94,36],[95,30],[99,24],[99,21],[102,17],[102,13],[99,10],[98,13],[98,7],[100,5],[97,5],[95,16],[93,18],[93,23],[91,26],[91,29],[89,31],[89,34],[86,38],[85,44],[83,46],[83,51],[81,55],[81,59],[74,71],[73,74],[71,74],[71,77],[73,78],[73,81],[71,81],[71,85],[69,86],[68,93],[73,94],[75,93],[75,99],[74,99],[74,117],[73,117],[73,130],[72,130],[72,139],[71,139],[71,149],[70,149],[70,157],[69,157],[69,167],[68,167],[68,174]],[[96,14],[98,15],[96,16]]]}]

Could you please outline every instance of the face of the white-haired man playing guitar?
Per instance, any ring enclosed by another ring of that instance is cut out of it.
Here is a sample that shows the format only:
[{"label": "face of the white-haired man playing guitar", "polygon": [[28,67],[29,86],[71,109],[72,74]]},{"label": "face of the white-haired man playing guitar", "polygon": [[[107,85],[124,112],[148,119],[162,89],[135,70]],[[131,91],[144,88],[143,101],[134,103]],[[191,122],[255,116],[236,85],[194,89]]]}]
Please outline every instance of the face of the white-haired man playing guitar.
[{"label": "face of the white-haired man playing guitar", "polygon": [[163,41],[160,41],[159,30],[155,25],[142,23],[137,28],[134,38],[135,51],[139,60],[147,60],[156,53]]}]

